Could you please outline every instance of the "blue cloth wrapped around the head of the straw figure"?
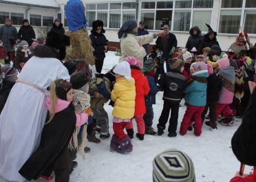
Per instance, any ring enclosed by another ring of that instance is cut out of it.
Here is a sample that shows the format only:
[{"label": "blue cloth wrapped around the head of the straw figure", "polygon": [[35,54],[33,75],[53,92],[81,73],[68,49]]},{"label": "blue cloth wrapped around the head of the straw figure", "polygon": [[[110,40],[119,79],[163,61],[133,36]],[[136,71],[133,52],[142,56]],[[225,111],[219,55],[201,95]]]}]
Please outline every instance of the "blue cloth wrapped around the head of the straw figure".
[{"label": "blue cloth wrapped around the head of the straw figure", "polygon": [[67,25],[70,31],[87,27],[85,9],[81,0],[70,0],[66,6]]}]

